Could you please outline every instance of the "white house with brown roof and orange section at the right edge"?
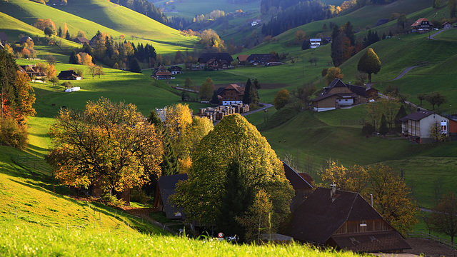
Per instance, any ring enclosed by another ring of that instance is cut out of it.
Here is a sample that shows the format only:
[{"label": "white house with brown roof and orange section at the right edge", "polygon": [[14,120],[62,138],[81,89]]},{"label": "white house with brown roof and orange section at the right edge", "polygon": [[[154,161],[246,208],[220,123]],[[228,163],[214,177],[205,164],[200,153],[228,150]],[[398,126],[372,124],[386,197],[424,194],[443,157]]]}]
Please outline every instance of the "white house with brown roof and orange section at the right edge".
[{"label": "white house with brown roof and orange section at the right edge", "polygon": [[419,110],[400,119],[401,133],[416,143],[433,142],[431,126],[438,123],[441,133],[451,140],[457,139],[457,121],[435,114],[433,111]]}]

